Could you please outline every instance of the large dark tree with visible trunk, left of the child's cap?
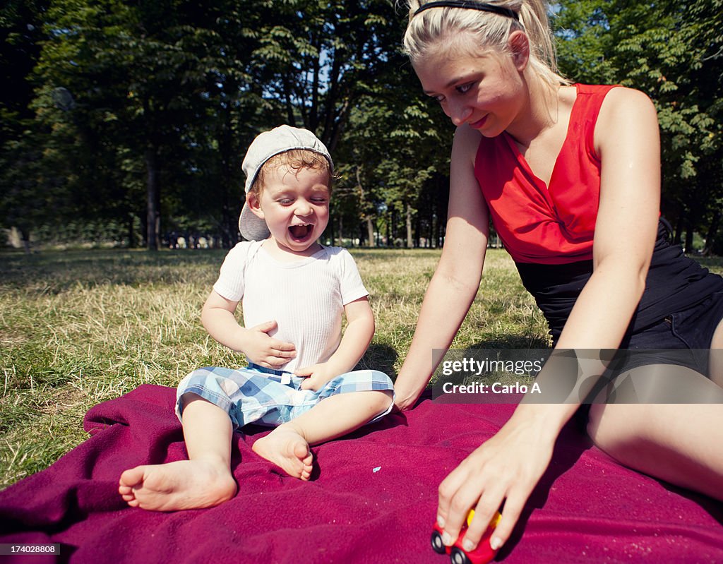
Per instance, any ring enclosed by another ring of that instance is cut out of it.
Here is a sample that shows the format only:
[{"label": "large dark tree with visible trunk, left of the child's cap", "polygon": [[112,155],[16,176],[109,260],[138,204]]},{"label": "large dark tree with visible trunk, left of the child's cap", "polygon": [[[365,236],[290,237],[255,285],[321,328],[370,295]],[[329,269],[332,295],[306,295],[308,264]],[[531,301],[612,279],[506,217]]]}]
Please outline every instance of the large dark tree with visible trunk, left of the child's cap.
[{"label": "large dark tree with visible trunk, left of the child's cap", "polygon": [[116,170],[121,155],[144,164],[149,249],[159,244],[161,184],[192,174],[169,165],[201,146],[218,43],[203,27],[209,17],[184,0],[58,0],[48,11],[37,72],[46,90],[72,93],[73,119],[95,140],[90,150],[107,144],[103,160]]}]

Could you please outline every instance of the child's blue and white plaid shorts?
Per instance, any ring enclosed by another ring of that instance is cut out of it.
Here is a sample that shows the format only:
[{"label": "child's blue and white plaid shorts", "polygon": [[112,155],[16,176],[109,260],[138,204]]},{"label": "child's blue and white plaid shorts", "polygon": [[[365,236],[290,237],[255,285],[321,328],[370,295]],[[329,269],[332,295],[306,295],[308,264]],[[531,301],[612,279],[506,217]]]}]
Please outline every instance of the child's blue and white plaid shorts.
[{"label": "child's blue and white plaid shorts", "polygon": [[[181,419],[184,393],[195,393],[223,409],[234,429],[255,423],[278,427],[338,393],[394,391],[392,380],[378,370],[354,370],[329,380],[320,390],[301,390],[304,378],[249,364],[247,368],[205,367],[181,380],[176,392],[176,416]],[[377,421],[388,414],[392,403]]]}]

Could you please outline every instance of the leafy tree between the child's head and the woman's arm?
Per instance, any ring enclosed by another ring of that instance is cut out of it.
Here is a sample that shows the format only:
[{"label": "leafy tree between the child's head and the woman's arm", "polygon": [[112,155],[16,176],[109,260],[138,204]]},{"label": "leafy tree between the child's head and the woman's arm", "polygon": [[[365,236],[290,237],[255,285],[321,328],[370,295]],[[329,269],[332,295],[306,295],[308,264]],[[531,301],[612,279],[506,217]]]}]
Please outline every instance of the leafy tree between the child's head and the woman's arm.
[{"label": "leafy tree between the child's head and the woman's arm", "polygon": [[[364,224],[361,238],[374,244],[374,234],[381,238],[385,231],[388,244],[401,239],[414,247],[424,227],[427,239],[436,242],[446,219],[453,127],[440,106],[422,94],[398,48],[380,72],[379,86],[352,108],[338,146],[358,203],[356,221]],[[403,230],[397,228],[398,218]]]}]

